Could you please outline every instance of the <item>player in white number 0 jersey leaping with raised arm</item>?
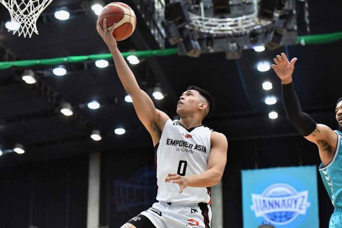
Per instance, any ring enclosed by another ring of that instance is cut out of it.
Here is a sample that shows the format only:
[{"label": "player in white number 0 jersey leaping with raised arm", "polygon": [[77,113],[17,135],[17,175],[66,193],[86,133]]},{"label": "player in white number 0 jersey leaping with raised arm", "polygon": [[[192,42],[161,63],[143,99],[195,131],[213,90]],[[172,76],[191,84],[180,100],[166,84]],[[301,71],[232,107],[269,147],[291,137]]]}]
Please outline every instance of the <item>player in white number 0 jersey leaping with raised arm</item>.
[{"label": "player in white number 0 jersey leaping with raised arm", "polygon": [[121,228],[210,228],[211,198],[207,187],[219,183],[227,160],[226,137],[203,126],[213,110],[213,98],[190,86],[179,98],[180,121],[155,108],[108,31],[106,19],[97,31],[111,51],[120,81],[131,96],[137,115],[150,133],[157,165],[157,201]]}]

